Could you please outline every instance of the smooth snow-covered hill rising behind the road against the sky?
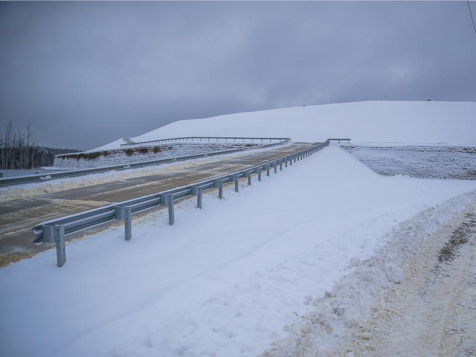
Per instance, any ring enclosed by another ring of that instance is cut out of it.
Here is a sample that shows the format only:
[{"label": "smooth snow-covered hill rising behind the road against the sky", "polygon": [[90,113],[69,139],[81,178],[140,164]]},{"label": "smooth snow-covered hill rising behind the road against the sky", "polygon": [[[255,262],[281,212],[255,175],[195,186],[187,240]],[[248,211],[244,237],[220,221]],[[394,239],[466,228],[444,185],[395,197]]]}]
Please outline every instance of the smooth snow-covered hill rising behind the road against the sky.
[{"label": "smooth snow-covered hill rising behind the road against the sky", "polygon": [[353,142],[476,145],[476,103],[368,101],[206,119],[180,120],[135,142],[181,136],[286,136],[293,141],[350,137]]}]

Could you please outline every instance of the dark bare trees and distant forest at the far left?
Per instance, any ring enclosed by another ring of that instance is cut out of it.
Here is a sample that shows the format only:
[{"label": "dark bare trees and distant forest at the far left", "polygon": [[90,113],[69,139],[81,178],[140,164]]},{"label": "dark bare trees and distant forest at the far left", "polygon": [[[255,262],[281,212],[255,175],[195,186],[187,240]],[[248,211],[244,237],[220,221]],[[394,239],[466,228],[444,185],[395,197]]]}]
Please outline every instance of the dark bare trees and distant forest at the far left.
[{"label": "dark bare trees and distant forest at the far left", "polygon": [[0,131],[0,169],[38,169],[53,166],[55,155],[79,152],[77,149],[57,149],[35,144],[33,131],[14,130],[10,121]]}]

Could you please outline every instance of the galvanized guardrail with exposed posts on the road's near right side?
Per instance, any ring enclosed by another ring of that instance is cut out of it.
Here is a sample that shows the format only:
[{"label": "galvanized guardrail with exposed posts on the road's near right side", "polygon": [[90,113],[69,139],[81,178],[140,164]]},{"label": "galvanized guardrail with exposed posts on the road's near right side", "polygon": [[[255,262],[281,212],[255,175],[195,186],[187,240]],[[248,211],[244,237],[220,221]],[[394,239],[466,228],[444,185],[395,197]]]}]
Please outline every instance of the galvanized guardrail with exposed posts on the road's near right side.
[{"label": "galvanized guardrail with exposed posts on the road's near right side", "polygon": [[65,235],[108,223],[110,221],[123,220],[124,238],[129,240],[131,238],[132,214],[161,205],[168,206],[169,224],[172,225],[175,222],[174,200],[188,196],[196,196],[197,207],[201,208],[203,191],[218,188],[218,197],[223,198],[223,185],[225,183],[234,182],[235,190],[238,192],[239,179],[246,178],[248,185],[251,185],[251,175],[256,174],[258,175],[258,180],[261,181],[262,172],[266,172],[266,176],[269,176],[270,170],[273,170],[276,174],[278,166],[279,170],[282,171],[283,165],[285,167],[288,167],[288,164],[292,166],[293,162],[296,163],[296,161],[300,161],[301,159],[316,153],[326,146],[329,146],[330,141],[334,140],[350,141],[350,139],[327,139],[325,142],[311,148],[247,168],[243,171],[40,223],[32,229],[36,237],[34,243],[56,243],[57,265],[61,267],[66,261]]}]

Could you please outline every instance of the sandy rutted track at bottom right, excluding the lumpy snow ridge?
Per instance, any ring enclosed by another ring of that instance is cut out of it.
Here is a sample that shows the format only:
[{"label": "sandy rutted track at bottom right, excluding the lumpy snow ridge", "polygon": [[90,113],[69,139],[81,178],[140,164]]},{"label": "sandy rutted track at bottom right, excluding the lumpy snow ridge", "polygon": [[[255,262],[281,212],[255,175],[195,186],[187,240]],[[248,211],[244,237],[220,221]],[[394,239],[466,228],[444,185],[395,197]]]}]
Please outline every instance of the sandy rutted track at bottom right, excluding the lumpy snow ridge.
[{"label": "sandy rutted track at bottom right, excluding the lumpy snow ridge", "polygon": [[465,213],[404,264],[404,282],[371,306],[370,318],[358,324],[338,356],[474,355],[475,202]]}]

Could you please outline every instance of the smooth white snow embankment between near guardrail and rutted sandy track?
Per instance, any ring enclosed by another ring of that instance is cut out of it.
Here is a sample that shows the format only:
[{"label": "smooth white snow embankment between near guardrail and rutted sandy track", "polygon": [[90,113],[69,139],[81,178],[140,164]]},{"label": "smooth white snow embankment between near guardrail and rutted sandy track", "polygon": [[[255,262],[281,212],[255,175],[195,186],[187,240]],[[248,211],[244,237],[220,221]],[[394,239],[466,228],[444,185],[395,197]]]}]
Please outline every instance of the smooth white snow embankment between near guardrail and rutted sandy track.
[{"label": "smooth white snow embankment between near guardrail and rutted sandy track", "polygon": [[[158,211],[134,221],[130,241],[113,227],[68,244],[61,269],[54,250],[1,269],[0,345],[7,356],[255,356],[284,339],[276,348],[287,351],[303,315],[338,331],[315,298],[395,236],[417,244],[474,190],[382,177],[331,146],[224,200],[209,193],[202,210],[178,204],[174,226]],[[381,259],[399,266],[405,254]]]}]

